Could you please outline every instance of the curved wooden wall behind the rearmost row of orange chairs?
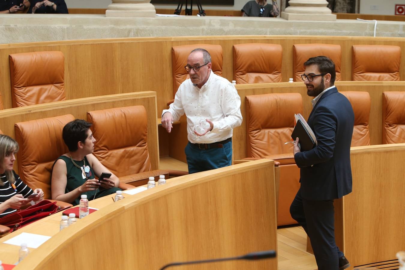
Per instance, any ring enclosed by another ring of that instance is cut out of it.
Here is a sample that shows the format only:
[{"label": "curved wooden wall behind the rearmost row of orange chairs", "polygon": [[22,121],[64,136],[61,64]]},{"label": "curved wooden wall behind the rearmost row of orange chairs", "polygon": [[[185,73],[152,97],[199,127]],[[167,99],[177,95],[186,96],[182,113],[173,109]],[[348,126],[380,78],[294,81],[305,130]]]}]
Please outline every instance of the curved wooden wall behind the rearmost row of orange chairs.
[{"label": "curved wooden wall behind the rearmost row of orange chairs", "polygon": [[[272,43],[283,47],[283,81],[292,77],[292,45],[297,43],[337,44],[342,48],[342,81],[351,80],[352,45],[397,45],[405,59],[403,38],[350,36],[192,36],[166,38],[118,38],[65,40],[0,45],[0,93],[4,108],[11,108],[9,54],[32,51],[62,51],[65,56],[66,98],[85,98],[136,91],[157,91],[158,112],[173,99],[171,48],[207,43],[223,49],[223,76],[233,78],[232,45]],[[405,61],[400,67],[405,81]]]}]

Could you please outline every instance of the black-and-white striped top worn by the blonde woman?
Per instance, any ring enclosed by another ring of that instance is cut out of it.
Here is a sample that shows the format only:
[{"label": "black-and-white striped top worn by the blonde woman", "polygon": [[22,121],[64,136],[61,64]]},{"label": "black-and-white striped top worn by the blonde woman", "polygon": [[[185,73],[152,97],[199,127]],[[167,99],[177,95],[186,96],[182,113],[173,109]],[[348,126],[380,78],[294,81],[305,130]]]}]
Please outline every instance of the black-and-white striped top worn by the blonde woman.
[{"label": "black-and-white striped top worn by the blonde woman", "polygon": [[[0,174],[0,181],[2,181],[2,183],[4,183],[3,186],[0,186],[0,204],[5,202],[6,200],[9,200],[11,197],[13,197],[16,194],[22,194],[24,196],[24,198],[27,198],[32,193],[34,193],[34,191],[32,191],[32,189],[30,189],[30,187],[28,187],[28,185],[26,185],[26,183],[21,181],[20,176],[18,176],[14,170],[13,170],[13,173],[14,173],[14,177],[15,177],[15,187],[16,187],[17,191],[15,191],[13,189],[13,187],[11,187],[11,184],[6,179],[6,175]],[[15,211],[17,211],[17,210],[13,209],[13,208],[8,208],[3,213],[0,214],[0,218],[4,217],[10,213],[13,213]]]}]

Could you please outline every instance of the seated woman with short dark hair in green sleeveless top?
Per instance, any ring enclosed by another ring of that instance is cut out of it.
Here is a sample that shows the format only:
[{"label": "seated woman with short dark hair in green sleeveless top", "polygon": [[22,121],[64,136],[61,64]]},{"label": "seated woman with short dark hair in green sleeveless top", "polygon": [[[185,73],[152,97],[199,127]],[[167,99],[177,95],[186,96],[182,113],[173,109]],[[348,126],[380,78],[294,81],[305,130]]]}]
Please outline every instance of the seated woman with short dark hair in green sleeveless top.
[{"label": "seated woman with short dark hair in green sleeveless top", "polygon": [[[52,168],[52,199],[79,204],[80,197],[87,195],[88,200],[115,193],[119,179],[107,170],[92,154],[96,139],[90,130],[91,123],[76,119],[67,123],[62,137],[69,152],[56,159]],[[95,179],[103,172],[111,173],[110,178],[102,181]]]}]

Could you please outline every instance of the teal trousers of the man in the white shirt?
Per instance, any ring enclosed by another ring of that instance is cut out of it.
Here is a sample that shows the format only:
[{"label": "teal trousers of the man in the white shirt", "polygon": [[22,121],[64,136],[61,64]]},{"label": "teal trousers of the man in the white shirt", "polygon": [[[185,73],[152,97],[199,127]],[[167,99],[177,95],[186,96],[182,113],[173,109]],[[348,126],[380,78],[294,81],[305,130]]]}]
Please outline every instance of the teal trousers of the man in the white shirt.
[{"label": "teal trousers of the man in the white shirt", "polygon": [[203,172],[232,165],[232,141],[222,148],[199,149],[188,142],[184,149],[188,173]]}]

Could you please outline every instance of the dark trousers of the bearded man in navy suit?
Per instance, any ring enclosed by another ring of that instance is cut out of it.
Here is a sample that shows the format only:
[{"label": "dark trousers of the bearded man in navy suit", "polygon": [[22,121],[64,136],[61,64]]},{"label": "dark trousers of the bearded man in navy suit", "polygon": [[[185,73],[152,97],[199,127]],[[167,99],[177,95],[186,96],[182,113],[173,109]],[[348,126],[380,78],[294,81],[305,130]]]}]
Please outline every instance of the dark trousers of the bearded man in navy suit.
[{"label": "dark trousers of the bearded man in navy suit", "polygon": [[338,270],[344,256],[335,242],[335,209],[333,200],[313,201],[301,197],[298,190],[290,206],[290,214],[305,230],[319,270]]}]

